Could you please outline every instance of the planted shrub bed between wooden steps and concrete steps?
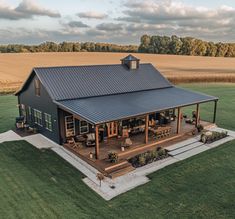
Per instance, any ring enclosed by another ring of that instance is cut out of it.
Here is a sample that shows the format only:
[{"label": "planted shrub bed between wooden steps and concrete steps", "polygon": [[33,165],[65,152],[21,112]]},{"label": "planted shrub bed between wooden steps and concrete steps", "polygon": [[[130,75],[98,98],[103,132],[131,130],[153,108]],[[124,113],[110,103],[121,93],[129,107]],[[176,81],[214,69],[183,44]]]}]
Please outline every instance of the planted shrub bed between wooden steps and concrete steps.
[{"label": "planted shrub bed between wooden steps and concrete steps", "polygon": [[158,147],[155,150],[147,151],[142,154],[138,154],[128,160],[133,167],[138,168],[154,161],[162,160],[167,158],[169,155],[164,148]]}]

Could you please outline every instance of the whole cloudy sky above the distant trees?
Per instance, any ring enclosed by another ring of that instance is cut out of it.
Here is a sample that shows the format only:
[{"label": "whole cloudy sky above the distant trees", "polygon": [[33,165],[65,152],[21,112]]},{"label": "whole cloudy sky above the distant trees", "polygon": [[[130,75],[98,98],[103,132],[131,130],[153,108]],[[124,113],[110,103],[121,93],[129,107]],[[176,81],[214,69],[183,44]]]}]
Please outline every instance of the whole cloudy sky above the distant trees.
[{"label": "whole cloudy sky above the distant trees", "polygon": [[0,0],[0,44],[138,44],[143,34],[235,42],[235,1]]}]

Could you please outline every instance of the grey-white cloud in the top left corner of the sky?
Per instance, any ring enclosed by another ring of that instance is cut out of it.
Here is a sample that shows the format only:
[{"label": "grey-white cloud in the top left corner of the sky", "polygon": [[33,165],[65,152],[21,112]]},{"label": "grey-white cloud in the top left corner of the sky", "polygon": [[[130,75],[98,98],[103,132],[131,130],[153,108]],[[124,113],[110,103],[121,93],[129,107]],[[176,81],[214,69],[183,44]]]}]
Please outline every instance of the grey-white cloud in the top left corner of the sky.
[{"label": "grey-white cloud in the top left corner of the sky", "polygon": [[17,7],[12,8],[0,2],[0,19],[20,20],[34,16],[60,17],[56,11],[52,11],[37,5],[31,0],[23,0]]}]

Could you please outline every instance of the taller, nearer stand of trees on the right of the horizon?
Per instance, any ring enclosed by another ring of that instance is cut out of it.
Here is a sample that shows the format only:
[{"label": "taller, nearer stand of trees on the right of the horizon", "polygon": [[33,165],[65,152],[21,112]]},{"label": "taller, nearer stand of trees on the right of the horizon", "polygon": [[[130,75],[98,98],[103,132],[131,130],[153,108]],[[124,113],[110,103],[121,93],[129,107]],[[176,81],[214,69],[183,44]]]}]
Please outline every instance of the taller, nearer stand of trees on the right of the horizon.
[{"label": "taller, nearer stand of trees on the right of the horizon", "polygon": [[193,37],[143,35],[141,53],[235,57],[235,43],[207,42]]}]

